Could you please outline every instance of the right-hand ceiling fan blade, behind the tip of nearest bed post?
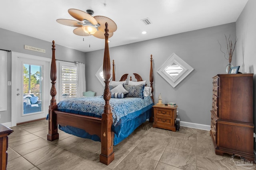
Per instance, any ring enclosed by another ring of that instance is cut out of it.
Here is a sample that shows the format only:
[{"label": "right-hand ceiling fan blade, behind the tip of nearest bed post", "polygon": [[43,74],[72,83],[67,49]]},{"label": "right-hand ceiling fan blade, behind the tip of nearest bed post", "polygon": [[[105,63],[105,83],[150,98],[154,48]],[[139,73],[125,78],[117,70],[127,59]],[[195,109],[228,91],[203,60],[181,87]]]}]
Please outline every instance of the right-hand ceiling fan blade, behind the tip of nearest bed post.
[{"label": "right-hand ceiling fan blade, behind the tip of nearest bed post", "polygon": [[108,17],[105,17],[105,16],[95,16],[94,17],[98,23],[100,24],[100,26],[98,27],[98,29],[102,32],[105,32],[105,23],[107,22],[108,23],[108,31],[109,32],[115,32],[116,29],[117,29],[117,26],[116,26],[116,23],[111,20],[110,18]]}]

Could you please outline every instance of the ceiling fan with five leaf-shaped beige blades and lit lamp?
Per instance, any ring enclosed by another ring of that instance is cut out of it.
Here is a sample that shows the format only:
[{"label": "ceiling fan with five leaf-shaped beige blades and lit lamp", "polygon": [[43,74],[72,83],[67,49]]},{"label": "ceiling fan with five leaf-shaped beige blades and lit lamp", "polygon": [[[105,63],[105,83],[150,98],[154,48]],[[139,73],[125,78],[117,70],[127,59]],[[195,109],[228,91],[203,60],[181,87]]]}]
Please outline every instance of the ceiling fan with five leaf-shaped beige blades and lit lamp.
[{"label": "ceiling fan with five leaf-shaped beige blades and lit lamp", "polygon": [[68,13],[74,17],[76,20],[68,19],[58,19],[58,23],[63,25],[78,27],[73,30],[73,33],[80,36],[89,36],[93,35],[94,37],[105,39],[105,23],[108,23],[108,33],[109,38],[113,36],[113,32],[116,31],[116,23],[108,17],[105,16],[92,16],[94,14],[93,10],[86,10],[86,12],[69,9]]}]

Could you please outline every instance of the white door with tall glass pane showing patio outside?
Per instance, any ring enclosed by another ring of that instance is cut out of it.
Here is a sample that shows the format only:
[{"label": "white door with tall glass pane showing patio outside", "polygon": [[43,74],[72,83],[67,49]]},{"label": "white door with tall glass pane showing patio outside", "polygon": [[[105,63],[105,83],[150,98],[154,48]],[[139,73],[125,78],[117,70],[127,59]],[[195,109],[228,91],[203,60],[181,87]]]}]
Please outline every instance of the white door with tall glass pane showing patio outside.
[{"label": "white door with tall glass pane showing patio outside", "polygon": [[48,114],[51,59],[12,52],[12,126]]}]

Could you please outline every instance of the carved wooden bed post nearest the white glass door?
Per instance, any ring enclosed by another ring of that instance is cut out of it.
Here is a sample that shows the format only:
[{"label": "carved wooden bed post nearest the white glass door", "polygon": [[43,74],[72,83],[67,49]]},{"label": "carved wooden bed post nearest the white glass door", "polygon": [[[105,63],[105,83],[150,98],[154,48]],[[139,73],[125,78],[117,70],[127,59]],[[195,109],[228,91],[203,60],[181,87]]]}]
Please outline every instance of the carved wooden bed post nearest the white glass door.
[{"label": "carved wooden bed post nearest the white glass door", "polygon": [[48,125],[48,135],[47,135],[47,140],[48,141],[54,141],[55,139],[59,139],[59,134],[58,134],[58,125],[56,124],[56,116],[53,114],[54,110],[57,110],[57,105],[56,105],[56,88],[55,88],[55,81],[56,81],[56,61],[55,61],[55,42],[52,41],[52,63],[51,63],[51,80],[52,80],[52,88],[50,91],[50,95],[52,96],[52,99],[50,100],[50,106],[49,106],[49,125]]}]

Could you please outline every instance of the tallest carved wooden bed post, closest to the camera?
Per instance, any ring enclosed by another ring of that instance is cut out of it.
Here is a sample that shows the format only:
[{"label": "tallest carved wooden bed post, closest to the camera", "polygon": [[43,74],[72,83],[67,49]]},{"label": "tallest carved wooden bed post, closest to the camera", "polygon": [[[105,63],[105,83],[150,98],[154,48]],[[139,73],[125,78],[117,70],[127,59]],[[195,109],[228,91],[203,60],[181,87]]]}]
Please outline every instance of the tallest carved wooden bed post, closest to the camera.
[{"label": "tallest carved wooden bed post, closest to the camera", "polygon": [[105,89],[103,98],[105,100],[104,113],[102,113],[101,120],[101,154],[100,162],[103,164],[110,164],[114,160],[113,152],[113,132],[111,130],[113,124],[111,106],[109,100],[111,98],[110,89],[109,89],[109,79],[111,74],[110,68],[110,57],[108,50],[108,23],[105,24],[105,51],[103,59],[103,76],[105,79]]}]

